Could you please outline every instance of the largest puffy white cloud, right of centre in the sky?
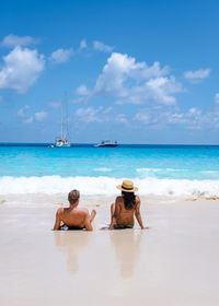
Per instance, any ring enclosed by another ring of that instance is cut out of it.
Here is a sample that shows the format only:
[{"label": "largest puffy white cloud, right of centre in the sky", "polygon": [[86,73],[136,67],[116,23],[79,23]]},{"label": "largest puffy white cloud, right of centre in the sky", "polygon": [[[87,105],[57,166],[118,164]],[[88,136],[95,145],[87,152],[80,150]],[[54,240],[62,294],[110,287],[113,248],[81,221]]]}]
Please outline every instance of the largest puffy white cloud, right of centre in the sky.
[{"label": "largest puffy white cloud, right of centre in the sky", "polygon": [[161,69],[159,62],[149,67],[146,62],[136,62],[127,55],[113,52],[107,59],[95,86],[88,91],[85,85],[80,86],[78,94],[91,96],[116,97],[117,104],[159,103],[173,105],[176,103],[175,93],[183,92],[182,84],[173,75],[164,76],[170,72],[169,67]]}]

